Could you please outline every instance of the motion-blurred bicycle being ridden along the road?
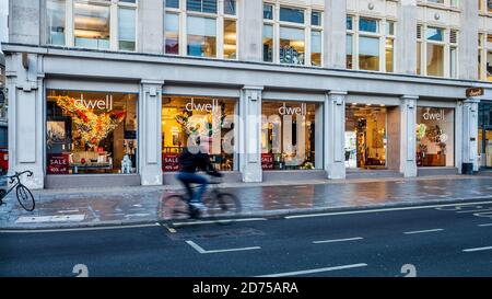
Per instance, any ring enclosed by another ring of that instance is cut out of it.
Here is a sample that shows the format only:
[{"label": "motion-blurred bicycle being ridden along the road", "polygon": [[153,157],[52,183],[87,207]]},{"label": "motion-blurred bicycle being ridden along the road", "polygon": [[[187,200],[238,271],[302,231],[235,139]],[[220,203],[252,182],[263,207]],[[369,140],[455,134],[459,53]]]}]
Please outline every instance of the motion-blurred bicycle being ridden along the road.
[{"label": "motion-blurred bicycle being ridden along the road", "polygon": [[[207,207],[208,218],[220,225],[229,225],[241,212],[241,202],[234,194],[221,192],[220,183],[216,179],[209,182],[210,186],[203,196],[203,205]],[[187,193],[173,194],[164,198],[162,203],[164,220],[207,218],[199,209],[190,205],[188,198]]]}]

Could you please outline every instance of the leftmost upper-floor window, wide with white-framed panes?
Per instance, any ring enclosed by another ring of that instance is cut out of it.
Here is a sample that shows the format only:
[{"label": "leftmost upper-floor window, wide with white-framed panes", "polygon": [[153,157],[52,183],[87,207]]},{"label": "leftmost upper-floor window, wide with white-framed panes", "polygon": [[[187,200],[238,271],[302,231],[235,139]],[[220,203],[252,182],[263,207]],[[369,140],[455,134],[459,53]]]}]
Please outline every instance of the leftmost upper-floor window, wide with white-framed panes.
[{"label": "leftmost upper-floor window, wide with white-framed panes", "polygon": [[136,50],[137,0],[46,0],[46,14],[49,45]]}]

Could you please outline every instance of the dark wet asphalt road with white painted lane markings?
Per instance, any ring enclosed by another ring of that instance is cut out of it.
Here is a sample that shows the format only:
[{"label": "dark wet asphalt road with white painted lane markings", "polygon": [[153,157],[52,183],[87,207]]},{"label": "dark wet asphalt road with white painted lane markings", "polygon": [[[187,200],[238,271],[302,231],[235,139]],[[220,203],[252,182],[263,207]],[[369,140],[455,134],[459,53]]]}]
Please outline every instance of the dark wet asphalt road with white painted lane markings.
[{"label": "dark wet asphalt road with white painted lane markings", "polygon": [[492,200],[0,232],[0,276],[492,276]]}]

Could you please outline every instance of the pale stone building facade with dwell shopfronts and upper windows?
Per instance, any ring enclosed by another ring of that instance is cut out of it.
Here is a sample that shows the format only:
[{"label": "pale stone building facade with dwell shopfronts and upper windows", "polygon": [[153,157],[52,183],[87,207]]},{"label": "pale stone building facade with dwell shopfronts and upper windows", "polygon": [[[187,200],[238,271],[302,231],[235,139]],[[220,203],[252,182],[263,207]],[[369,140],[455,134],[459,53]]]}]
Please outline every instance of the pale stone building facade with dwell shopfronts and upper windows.
[{"label": "pale stone building facade with dwell shopfronts and upper windows", "polygon": [[172,184],[200,136],[231,181],[478,171],[491,2],[11,1],[10,170]]}]

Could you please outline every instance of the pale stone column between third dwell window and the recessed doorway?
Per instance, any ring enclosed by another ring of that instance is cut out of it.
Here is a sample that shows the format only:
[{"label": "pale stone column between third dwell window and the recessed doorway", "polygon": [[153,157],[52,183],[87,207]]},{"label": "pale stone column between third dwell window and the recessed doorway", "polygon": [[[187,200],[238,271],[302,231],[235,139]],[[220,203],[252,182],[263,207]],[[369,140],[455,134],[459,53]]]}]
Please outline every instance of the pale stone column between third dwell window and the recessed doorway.
[{"label": "pale stone column between third dwell window and the recessed doorway", "polygon": [[325,99],[325,170],[328,179],[345,179],[347,92],[331,91]]}]

